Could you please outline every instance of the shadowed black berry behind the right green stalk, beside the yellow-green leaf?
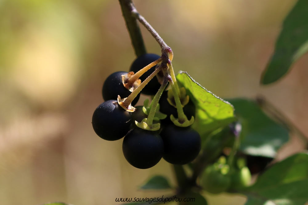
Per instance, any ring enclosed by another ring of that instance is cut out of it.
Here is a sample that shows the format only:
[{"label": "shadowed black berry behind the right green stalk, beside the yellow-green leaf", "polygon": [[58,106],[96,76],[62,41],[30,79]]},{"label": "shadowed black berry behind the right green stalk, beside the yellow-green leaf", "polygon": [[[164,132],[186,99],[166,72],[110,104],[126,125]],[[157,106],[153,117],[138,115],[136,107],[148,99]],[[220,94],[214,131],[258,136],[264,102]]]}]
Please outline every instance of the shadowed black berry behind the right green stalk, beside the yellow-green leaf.
[{"label": "shadowed black berry behind the right green stalk, beside the yellow-green leaf", "polygon": [[[177,118],[177,110],[175,107],[173,107],[169,102],[167,101],[168,98],[168,91],[164,91],[161,94],[161,97],[159,99],[159,104],[160,104],[160,112],[164,113],[167,115],[167,117],[163,120],[161,120],[161,123],[163,125],[169,125],[173,124],[172,121],[170,120],[170,115],[172,114],[175,118]],[[195,117],[196,113],[196,106],[193,104],[193,101],[189,100],[188,104],[186,104],[183,107],[183,112],[186,115],[187,119],[190,120],[192,116]]]}]

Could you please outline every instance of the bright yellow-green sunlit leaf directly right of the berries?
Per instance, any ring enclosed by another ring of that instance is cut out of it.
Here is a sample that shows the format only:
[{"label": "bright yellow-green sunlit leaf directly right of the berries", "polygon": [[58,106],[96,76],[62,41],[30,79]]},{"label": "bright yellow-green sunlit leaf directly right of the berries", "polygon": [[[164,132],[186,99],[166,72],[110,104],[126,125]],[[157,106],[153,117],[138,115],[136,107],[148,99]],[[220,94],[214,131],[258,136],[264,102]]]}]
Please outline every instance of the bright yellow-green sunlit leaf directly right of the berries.
[{"label": "bright yellow-green sunlit leaf directly right of the berries", "polygon": [[196,105],[196,117],[192,126],[201,136],[235,120],[234,108],[229,102],[206,90],[186,72],[177,74],[176,80],[186,89],[189,98]]}]

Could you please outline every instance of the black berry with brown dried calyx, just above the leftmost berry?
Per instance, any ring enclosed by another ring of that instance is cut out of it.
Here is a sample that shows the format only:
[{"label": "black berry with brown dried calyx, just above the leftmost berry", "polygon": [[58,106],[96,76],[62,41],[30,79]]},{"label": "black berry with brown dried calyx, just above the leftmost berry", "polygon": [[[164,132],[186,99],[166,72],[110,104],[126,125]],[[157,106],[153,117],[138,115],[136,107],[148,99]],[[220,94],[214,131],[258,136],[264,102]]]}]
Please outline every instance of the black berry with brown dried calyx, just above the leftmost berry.
[{"label": "black berry with brown dried calyx, just above the leftmost berry", "polygon": [[[122,75],[127,74],[127,72],[124,71],[118,71],[115,73],[112,73],[110,76],[107,77],[107,79],[104,82],[103,85],[103,99],[105,101],[108,100],[116,100],[118,99],[118,95],[123,99],[125,97],[128,97],[132,92],[126,89],[122,82]],[[132,106],[134,106],[140,97],[137,95],[137,97],[132,101]]]}]

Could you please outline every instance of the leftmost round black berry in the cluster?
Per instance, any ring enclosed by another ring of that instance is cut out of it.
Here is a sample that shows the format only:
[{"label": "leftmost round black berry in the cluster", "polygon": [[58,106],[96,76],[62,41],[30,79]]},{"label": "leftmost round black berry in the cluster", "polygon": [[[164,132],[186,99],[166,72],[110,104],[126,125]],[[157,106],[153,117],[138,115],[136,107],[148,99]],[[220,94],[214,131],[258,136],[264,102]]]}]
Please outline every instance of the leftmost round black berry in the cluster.
[{"label": "leftmost round black berry in the cluster", "polygon": [[93,129],[104,140],[121,139],[128,133],[131,124],[131,112],[124,110],[116,100],[103,102],[92,116]]}]

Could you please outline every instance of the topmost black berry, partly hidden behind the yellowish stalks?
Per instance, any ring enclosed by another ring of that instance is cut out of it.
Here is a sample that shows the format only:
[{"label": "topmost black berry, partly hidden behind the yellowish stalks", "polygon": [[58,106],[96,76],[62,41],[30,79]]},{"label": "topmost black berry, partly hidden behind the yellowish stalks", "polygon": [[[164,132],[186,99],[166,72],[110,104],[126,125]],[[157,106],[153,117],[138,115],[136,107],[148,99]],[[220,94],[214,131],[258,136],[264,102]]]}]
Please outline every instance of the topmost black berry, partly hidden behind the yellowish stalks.
[{"label": "topmost black berry, partly hidden behind the yellowish stalks", "polygon": [[[136,60],[132,63],[129,71],[133,71],[137,73],[140,69],[149,65],[150,63],[159,59],[160,56],[153,53],[146,53],[136,58]],[[149,75],[151,75],[155,71],[156,66],[150,68],[147,72],[145,72],[140,80],[143,82]],[[157,75],[162,75],[162,73],[158,73]],[[152,80],[142,89],[141,93],[144,95],[155,95],[160,88],[160,83],[157,80],[157,77],[153,77]]]}]

